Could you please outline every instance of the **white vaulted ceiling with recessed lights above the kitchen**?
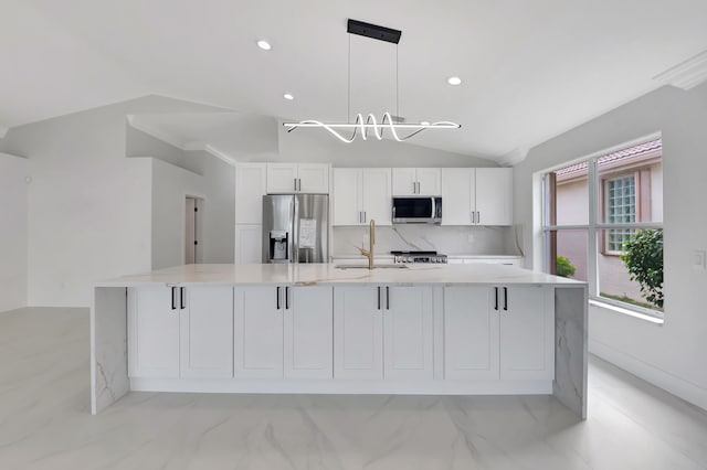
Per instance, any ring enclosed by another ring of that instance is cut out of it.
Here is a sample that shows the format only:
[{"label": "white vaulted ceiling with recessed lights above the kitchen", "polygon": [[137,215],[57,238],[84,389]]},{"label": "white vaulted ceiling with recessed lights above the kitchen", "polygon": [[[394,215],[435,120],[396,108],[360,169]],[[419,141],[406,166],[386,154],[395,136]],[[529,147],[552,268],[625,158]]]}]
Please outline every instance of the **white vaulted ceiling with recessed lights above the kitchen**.
[{"label": "white vaulted ceiling with recessed lights above the kitchen", "polygon": [[503,161],[662,86],[705,24],[704,0],[3,0],[0,127],[148,94],[297,120],[350,103],[457,121],[414,143]]}]

